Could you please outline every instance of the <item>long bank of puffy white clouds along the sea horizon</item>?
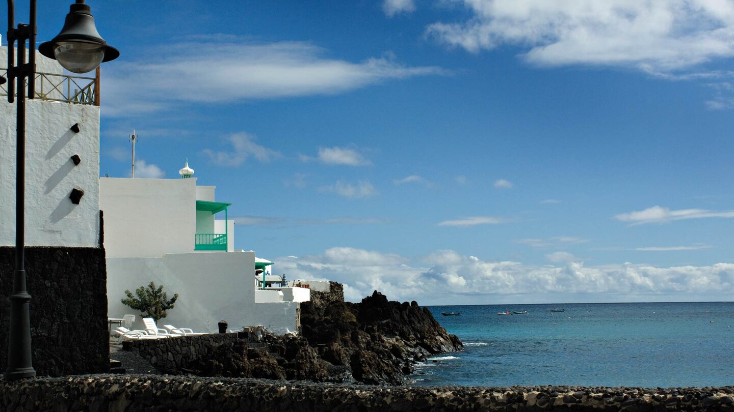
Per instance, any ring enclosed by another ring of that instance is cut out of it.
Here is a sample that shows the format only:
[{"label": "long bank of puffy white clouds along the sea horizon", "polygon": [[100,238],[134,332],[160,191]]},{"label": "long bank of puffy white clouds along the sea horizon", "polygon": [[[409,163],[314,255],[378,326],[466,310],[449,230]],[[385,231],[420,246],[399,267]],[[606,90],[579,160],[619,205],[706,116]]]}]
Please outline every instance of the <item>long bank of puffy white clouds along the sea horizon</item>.
[{"label": "long bank of puffy white clouds along the sea horizon", "polygon": [[440,250],[411,264],[397,254],[332,248],[323,254],[275,260],[290,279],[330,279],[345,284],[349,301],[373,290],[391,300],[419,304],[543,303],[588,301],[724,300],[734,293],[734,264],[656,268],[650,265],[585,267],[486,261]]}]

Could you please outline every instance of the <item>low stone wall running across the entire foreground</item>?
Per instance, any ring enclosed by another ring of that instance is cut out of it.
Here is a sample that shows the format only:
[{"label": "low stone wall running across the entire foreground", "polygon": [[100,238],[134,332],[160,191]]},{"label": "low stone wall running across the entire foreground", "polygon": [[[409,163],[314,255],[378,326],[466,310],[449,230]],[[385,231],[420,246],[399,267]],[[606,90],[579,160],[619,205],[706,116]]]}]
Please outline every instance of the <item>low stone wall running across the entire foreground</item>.
[{"label": "low stone wall running across the entire foreground", "polygon": [[87,375],[0,380],[25,411],[734,411],[734,388],[348,386],[283,380]]}]

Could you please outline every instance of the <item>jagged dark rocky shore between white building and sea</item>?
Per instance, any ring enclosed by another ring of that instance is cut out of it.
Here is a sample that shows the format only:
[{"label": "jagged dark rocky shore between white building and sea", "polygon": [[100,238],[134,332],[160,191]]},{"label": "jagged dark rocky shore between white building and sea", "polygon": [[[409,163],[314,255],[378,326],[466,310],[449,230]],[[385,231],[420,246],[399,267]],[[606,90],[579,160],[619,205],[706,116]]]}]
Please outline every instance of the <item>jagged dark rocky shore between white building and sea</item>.
[{"label": "jagged dark rocky shore between white building and sea", "polygon": [[231,345],[166,372],[231,378],[401,385],[426,356],[462,350],[426,308],[375,291],[344,302],[341,284],[301,305],[302,333],[250,330]]}]

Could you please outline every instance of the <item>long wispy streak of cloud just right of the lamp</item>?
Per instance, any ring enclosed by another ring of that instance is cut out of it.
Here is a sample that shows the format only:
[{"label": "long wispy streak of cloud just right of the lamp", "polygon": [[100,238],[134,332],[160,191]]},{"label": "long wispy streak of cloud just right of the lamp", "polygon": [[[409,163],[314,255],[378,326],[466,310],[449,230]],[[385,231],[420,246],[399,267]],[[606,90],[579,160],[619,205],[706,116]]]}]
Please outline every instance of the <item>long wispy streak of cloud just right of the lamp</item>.
[{"label": "long wispy streak of cloud just right of the lamp", "polygon": [[[439,67],[401,65],[392,56],[347,62],[305,42],[255,43],[214,35],[146,51],[151,62],[122,62],[103,77],[106,116],[148,114],[185,102],[334,95],[390,79],[433,76]],[[129,89],[135,85],[135,99]]]}]

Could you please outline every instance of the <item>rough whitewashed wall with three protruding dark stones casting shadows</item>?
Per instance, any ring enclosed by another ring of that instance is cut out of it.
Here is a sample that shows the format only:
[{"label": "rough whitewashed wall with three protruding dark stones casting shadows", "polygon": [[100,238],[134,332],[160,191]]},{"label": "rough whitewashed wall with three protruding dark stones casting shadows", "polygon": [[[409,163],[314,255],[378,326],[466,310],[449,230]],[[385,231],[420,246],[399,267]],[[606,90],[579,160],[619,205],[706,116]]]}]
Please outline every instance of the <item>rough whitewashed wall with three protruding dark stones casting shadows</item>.
[{"label": "rough whitewashed wall with three protruding dark stones casting shadows", "polygon": [[[7,62],[0,48],[0,67]],[[61,73],[38,55],[39,71]],[[0,245],[15,245],[15,103],[0,98]],[[79,123],[80,133],[70,127]],[[79,155],[75,166],[70,157]],[[26,101],[26,245],[99,244],[99,107]],[[84,191],[79,205],[68,198]]]}]

